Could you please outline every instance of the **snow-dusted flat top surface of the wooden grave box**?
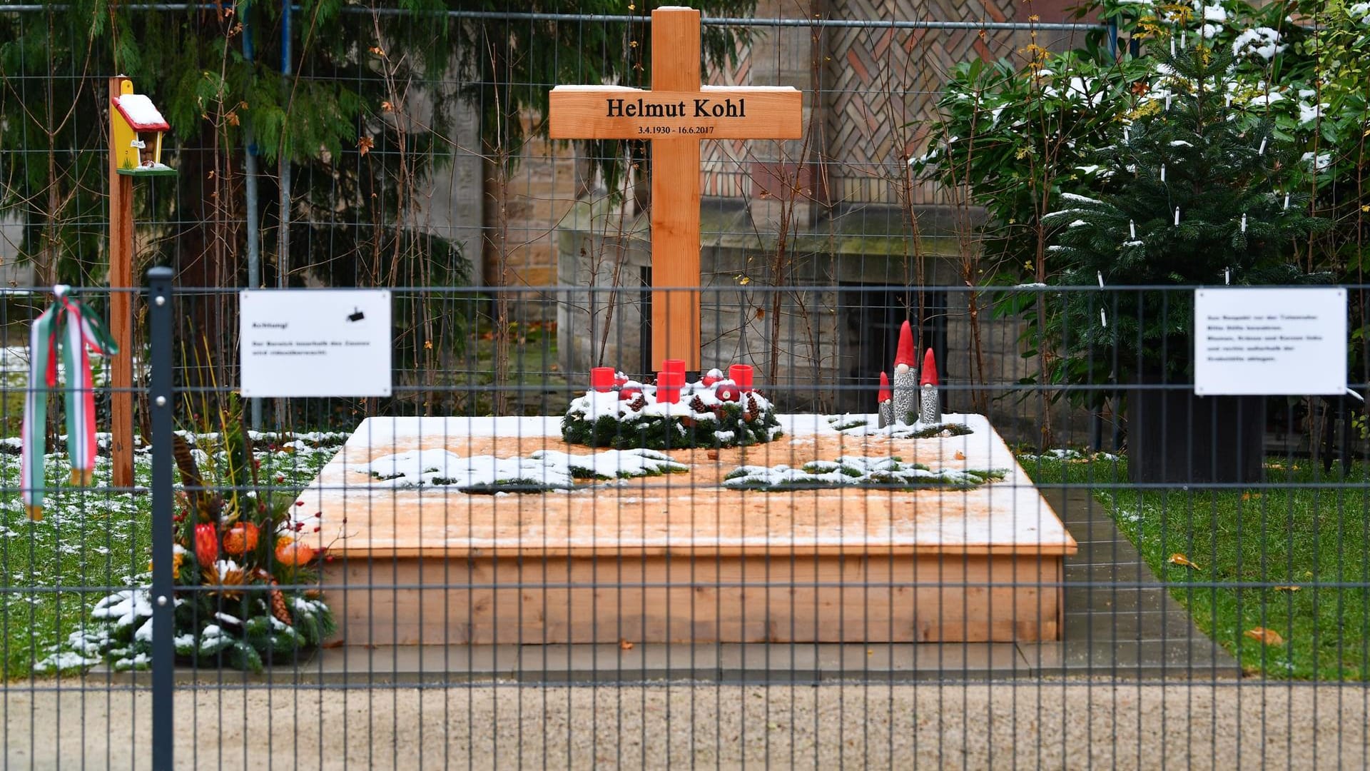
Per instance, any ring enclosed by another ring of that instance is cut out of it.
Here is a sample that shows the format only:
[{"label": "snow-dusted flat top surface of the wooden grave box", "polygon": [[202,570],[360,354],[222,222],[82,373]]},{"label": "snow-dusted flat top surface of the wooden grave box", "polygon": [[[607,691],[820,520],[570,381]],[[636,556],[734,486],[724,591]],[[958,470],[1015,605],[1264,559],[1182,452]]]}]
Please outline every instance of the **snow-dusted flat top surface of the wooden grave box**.
[{"label": "snow-dusted flat top surface of the wooden grave box", "polygon": [[[584,458],[595,450],[563,442],[560,417],[373,417],[301,493],[297,512],[319,514],[319,546],[358,557],[792,550],[1060,556],[1075,550],[982,416],[945,416],[970,432],[937,438],[869,428],[875,416],[777,417],[784,435],[766,444],[662,454],[684,472],[595,473],[612,479],[573,479],[551,493],[522,495],[467,494],[453,484],[408,486],[381,477],[396,469],[421,479],[452,479],[453,469],[570,468],[567,457]],[[995,477],[907,490],[847,484],[767,493],[725,486],[726,476],[743,466],[803,468],[843,457],[864,458],[873,466],[880,458],[897,458],[949,479],[993,469]],[[603,458],[592,466],[612,471],[649,460]],[[447,471],[427,471],[434,468]]]}]

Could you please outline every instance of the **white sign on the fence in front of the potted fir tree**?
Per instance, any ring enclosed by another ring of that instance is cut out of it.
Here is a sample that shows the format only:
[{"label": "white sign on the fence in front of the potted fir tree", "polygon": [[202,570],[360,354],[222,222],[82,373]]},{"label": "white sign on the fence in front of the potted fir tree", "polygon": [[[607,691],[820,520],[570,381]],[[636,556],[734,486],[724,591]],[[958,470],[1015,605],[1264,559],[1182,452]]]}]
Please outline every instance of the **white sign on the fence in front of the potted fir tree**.
[{"label": "white sign on the fence in front of the potted fir tree", "polygon": [[1195,394],[1330,395],[1345,390],[1345,289],[1195,289]]}]

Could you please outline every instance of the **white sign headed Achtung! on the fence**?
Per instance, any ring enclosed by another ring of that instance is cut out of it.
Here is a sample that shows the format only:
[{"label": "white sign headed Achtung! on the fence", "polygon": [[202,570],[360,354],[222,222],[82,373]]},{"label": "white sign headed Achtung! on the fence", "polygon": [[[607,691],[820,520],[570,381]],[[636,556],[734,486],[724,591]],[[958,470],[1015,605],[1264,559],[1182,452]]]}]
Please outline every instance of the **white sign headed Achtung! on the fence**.
[{"label": "white sign headed Achtung! on the fence", "polygon": [[390,292],[244,289],[244,396],[389,396]]}]

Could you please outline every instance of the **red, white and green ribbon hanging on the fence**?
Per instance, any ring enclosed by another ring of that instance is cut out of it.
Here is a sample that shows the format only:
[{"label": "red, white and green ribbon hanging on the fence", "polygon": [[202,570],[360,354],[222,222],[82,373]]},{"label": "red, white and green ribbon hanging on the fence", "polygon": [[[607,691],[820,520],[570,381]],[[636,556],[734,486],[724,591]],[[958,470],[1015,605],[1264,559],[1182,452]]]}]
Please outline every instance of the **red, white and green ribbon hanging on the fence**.
[{"label": "red, white and green ribbon hanging on the fence", "polygon": [[[29,390],[23,405],[23,444],[19,480],[25,509],[32,519],[42,519],[45,487],[44,451],[48,421],[48,392],[58,387],[58,357],[67,373],[63,390],[67,403],[67,454],[71,458],[71,482],[89,483],[95,469],[95,383],[90,354],[119,353],[104,321],[81,300],[68,295],[68,287],[52,288],[55,299],[29,331]],[[89,348],[89,350],[88,350]]]}]

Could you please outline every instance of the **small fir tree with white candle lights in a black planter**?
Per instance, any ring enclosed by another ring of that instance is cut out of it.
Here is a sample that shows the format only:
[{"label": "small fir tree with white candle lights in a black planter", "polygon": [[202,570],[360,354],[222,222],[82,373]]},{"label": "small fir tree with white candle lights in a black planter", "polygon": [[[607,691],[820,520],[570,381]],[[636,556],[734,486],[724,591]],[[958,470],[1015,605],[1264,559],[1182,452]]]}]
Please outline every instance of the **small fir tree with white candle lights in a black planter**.
[{"label": "small fir tree with white candle lights in a black planter", "polygon": [[[1099,151],[1096,189],[1064,193],[1044,221],[1055,281],[1080,287],[1300,284],[1299,241],[1328,229],[1291,189],[1293,156],[1270,122],[1233,108],[1232,55],[1197,45],[1158,54],[1159,82]],[[1045,320],[1058,383],[1136,383],[1192,372],[1186,292],[1081,292]]]}]

